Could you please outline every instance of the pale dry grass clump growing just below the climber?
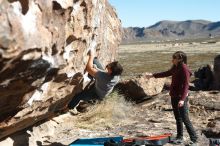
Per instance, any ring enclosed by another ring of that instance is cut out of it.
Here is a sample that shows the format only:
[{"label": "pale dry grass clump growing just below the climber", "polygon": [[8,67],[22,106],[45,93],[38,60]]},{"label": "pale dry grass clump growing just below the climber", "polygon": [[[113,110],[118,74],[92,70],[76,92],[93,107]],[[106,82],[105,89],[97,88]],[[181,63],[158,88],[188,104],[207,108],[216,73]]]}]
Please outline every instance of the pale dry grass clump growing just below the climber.
[{"label": "pale dry grass clump growing just below the climber", "polygon": [[132,105],[125,101],[117,92],[110,94],[104,101],[94,105],[91,109],[79,117],[76,127],[84,129],[114,128],[125,124],[132,115]]}]

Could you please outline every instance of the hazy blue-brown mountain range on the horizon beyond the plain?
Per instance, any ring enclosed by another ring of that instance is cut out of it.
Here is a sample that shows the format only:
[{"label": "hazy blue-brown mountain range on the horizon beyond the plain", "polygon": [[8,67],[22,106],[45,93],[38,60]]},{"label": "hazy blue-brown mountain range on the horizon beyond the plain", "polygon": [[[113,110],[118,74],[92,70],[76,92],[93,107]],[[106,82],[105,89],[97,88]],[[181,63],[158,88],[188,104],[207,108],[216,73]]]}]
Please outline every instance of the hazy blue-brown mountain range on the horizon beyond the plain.
[{"label": "hazy blue-brown mountain range on the horizon beyond the plain", "polygon": [[150,27],[123,28],[122,43],[154,42],[220,36],[220,21],[160,21]]}]

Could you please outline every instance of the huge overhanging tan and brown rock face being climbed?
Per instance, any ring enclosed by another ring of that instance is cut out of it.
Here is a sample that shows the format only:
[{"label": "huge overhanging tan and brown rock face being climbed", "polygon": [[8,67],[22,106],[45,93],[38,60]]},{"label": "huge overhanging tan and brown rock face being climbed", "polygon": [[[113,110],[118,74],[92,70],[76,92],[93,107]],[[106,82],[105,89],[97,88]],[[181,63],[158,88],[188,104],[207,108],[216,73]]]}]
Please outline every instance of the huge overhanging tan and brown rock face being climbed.
[{"label": "huge overhanging tan and brown rock face being climbed", "polygon": [[0,0],[0,13],[1,139],[82,90],[89,49],[114,60],[121,22],[106,0]]}]

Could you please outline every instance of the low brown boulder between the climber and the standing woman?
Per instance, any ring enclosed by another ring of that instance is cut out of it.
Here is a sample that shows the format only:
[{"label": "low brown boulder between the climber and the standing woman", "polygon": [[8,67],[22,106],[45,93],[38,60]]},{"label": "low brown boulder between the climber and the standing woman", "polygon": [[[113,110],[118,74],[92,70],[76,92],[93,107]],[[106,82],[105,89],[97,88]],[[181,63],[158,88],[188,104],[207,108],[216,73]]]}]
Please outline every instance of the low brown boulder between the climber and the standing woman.
[{"label": "low brown boulder between the climber and the standing woman", "polygon": [[139,102],[159,94],[164,87],[165,79],[147,79],[145,75],[120,82],[116,89],[128,100]]}]

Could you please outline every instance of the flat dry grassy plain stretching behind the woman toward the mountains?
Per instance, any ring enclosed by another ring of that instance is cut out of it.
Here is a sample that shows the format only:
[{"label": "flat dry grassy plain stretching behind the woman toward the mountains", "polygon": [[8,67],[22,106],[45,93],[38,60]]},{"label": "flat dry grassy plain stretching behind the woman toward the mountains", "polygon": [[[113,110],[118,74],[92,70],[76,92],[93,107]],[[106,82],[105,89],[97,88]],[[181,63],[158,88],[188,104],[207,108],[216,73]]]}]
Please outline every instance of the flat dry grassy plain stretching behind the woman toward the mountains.
[{"label": "flat dry grassy plain stretching behind the woman toward the mountains", "polygon": [[119,46],[118,60],[124,67],[123,75],[130,77],[144,72],[160,72],[171,67],[172,54],[184,51],[192,71],[201,66],[213,64],[220,53],[220,42],[215,44],[133,44]]}]

